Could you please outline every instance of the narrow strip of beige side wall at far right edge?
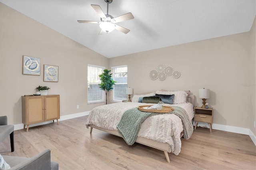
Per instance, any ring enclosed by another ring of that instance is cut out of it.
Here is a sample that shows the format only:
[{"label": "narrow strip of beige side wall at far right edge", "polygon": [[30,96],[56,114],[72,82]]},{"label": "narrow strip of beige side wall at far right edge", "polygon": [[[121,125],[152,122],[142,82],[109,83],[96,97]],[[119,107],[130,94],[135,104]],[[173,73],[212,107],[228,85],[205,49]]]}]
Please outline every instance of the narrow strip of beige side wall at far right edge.
[{"label": "narrow strip of beige side wall at far right edge", "polygon": [[250,90],[250,130],[256,136],[256,128],[254,127],[254,121],[256,120],[256,17],[254,23],[250,30],[250,49],[249,49],[249,62],[250,62],[250,81],[249,81],[249,90]]}]

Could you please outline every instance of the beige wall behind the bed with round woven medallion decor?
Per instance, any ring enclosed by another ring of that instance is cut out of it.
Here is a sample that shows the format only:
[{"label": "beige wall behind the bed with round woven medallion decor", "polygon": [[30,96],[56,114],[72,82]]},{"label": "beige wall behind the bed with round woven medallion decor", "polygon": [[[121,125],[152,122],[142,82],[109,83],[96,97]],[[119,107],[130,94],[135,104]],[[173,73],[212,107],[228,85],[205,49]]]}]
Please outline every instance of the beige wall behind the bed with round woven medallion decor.
[{"label": "beige wall behind the bed with round woven medallion decor", "polygon": [[[250,95],[244,87],[250,82],[249,35],[246,32],[115,57],[109,64],[128,65],[128,86],[134,93],[190,90],[198,97],[198,89],[210,89],[207,102],[214,108],[213,123],[249,128]],[[148,74],[159,63],[180,71],[180,78],[151,80]],[[196,105],[201,106],[202,100],[197,98]]]}]

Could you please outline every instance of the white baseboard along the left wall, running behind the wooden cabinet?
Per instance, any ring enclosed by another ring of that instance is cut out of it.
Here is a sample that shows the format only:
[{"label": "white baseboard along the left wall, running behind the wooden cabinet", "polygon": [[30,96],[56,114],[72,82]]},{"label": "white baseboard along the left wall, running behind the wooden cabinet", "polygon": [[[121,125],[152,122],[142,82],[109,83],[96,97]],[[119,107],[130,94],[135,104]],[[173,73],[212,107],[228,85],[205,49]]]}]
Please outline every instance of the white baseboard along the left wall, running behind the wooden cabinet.
[{"label": "white baseboard along the left wall, running behind the wooden cabinet", "polygon": [[[64,121],[64,120],[67,120],[67,119],[73,119],[73,118],[76,118],[76,117],[86,116],[86,115],[89,115],[89,113],[90,113],[90,111],[86,111],[86,112],[81,112],[81,113],[75,113],[75,114],[71,114],[71,115],[61,116],[59,121]],[[54,120],[54,121],[56,122],[56,120]],[[36,127],[36,126],[45,125],[45,124],[48,124],[48,123],[52,123],[52,121],[46,121],[46,122],[31,124],[31,125],[29,125],[29,127]],[[24,124],[23,123],[14,125],[14,130],[20,130],[20,129],[23,129],[23,128],[24,128]]]}]

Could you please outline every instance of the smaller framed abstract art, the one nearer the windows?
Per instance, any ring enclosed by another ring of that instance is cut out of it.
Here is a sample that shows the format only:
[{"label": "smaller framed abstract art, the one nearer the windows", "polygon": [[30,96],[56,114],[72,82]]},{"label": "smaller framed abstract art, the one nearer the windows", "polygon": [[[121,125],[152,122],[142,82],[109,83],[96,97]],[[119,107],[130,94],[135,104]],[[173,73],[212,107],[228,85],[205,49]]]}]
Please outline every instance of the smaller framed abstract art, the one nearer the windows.
[{"label": "smaller framed abstract art, the one nearer the windows", "polygon": [[44,64],[44,81],[58,82],[59,67]]}]

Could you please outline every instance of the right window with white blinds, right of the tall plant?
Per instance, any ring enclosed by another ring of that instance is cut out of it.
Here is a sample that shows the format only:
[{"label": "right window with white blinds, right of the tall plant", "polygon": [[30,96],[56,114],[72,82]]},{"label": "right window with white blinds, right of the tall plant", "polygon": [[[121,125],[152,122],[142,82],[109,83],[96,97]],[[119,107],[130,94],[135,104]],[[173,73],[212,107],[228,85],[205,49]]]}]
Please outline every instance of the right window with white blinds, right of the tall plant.
[{"label": "right window with white blinds, right of the tall plant", "polygon": [[112,77],[116,81],[113,89],[113,101],[127,100],[127,65],[121,65],[112,68]]}]

